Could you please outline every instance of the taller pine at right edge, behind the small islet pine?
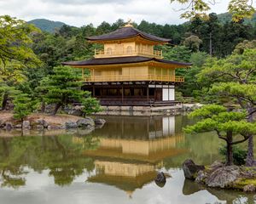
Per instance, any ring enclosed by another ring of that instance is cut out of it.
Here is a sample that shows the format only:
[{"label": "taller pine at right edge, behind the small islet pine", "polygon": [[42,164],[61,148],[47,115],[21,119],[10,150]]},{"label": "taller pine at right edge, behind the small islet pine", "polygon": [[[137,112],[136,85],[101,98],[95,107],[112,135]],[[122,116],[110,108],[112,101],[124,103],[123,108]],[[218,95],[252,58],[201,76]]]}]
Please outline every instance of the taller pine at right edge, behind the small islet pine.
[{"label": "taller pine at right edge, behind the small islet pine", "polygon": [[[219,101],[229,101],[247,111],[247,122],[256,112],[256,49],[232,54],[227,59],[210,59],[198,75],[208,85],[208,94]],[[206,94],[206,93],[205,93]],[[248,139],[247,166],[253,165],[253,135]]]}]

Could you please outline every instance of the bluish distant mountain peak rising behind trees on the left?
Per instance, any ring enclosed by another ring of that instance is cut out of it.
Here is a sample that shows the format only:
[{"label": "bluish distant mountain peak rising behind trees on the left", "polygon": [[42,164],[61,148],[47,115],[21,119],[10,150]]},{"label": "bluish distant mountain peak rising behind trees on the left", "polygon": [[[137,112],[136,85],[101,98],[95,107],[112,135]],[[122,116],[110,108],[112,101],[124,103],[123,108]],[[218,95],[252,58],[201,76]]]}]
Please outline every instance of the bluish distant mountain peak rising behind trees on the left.
[{"label": "bluish distant mountain peak rising behind trees on the left", "polygon": [[61,26],[66,25],[60,21],[53,21],[53,20],[46,20],[46,19],[35,19],[30,20],[27,23],[33,24],[34,26],[38,27],[42,31],[48,31],[54,33],[56,30],[60,29]]}]

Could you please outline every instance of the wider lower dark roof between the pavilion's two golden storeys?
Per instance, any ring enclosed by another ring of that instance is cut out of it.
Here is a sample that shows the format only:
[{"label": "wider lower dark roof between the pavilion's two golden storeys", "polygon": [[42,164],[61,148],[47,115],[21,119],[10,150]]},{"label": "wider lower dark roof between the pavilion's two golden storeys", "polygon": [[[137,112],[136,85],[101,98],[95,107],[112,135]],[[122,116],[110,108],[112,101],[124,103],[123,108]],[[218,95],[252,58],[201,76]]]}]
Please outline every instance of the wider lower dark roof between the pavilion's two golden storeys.
[{"label": "wider lower dark roof between the pavilion's two golden storeys", "polygon": [[63,62],[62,65],[115,65],[115,64],[131,64],[131,63],[147,62],[151,60],[165,63],[165,64],[170,64],[170,65],[183,66],[183,67],[192,65],[191,63],[169,61],[166,59],[148,58],[148,57],[141,57],[141,56],[93,58],[93,59],[88,59],[83,61]]}]

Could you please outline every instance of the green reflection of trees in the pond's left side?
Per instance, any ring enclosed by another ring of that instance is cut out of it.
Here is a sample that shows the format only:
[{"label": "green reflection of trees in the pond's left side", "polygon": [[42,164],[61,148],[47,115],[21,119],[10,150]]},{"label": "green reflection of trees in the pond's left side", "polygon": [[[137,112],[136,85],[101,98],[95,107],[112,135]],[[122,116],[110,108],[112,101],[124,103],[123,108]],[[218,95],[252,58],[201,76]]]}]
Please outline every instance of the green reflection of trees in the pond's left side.
[{"label": "green reflection of trees in the pond's left side", "polygon": [[91,158],[82,155],[85,149],[96,148],[96,139],[80,137],[74,144],[72,135],[49,137],[14,137],[0,139],[0,172],[2,186],[18,188],[26,184],[26,167],[41,173],[49,169],[55,184],[71,184],[82,173],[94,169]]}]

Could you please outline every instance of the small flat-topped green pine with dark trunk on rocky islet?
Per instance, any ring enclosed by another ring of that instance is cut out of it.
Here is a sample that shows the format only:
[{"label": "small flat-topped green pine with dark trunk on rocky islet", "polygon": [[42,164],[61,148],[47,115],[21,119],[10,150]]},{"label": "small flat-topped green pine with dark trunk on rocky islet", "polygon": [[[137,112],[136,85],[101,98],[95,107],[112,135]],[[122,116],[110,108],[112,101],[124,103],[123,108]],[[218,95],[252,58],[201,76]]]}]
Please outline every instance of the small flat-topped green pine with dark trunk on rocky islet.
[{"label": "small flat-topped green pine with dark trunk on rocky islet", "polygon": [[226,142],[226,165],[233,164],[233,145],[240,144],[256,133],[256,124],[245,121],[245,112],[227,111],[222,105],[205,105],[189,114],[200,119],[185,127],[187,133],[215,131]]}]

